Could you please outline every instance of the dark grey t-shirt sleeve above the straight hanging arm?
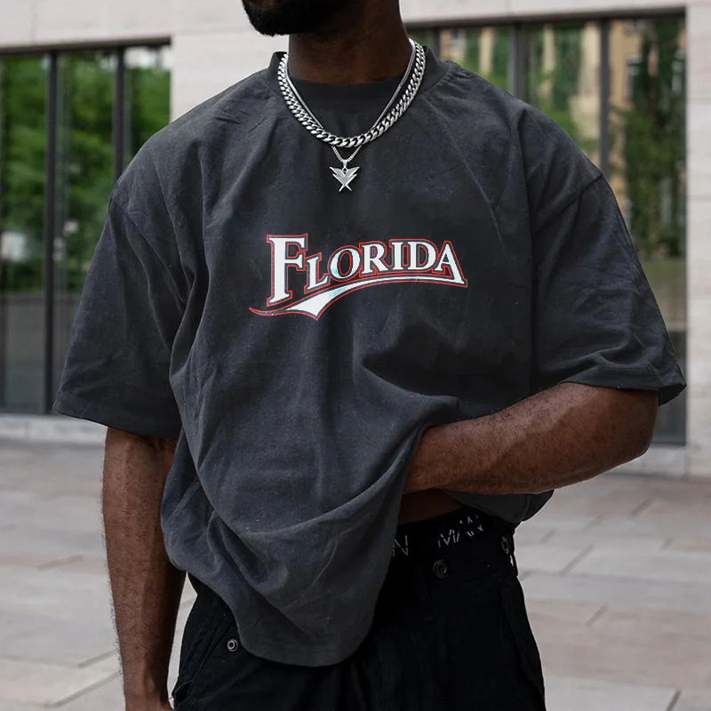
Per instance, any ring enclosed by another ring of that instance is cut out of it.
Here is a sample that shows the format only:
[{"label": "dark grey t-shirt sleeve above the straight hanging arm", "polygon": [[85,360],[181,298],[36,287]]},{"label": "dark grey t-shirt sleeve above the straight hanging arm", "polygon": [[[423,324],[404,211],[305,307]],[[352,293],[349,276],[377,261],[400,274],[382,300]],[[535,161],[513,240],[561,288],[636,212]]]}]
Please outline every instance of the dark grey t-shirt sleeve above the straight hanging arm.
[{"label": "dark grey t-shirt sleeve above the straight hanging arm", "polygon": [[165,260],[112,200],[69,337],[55,411],[177,439],[170,366],[182,311]]}]

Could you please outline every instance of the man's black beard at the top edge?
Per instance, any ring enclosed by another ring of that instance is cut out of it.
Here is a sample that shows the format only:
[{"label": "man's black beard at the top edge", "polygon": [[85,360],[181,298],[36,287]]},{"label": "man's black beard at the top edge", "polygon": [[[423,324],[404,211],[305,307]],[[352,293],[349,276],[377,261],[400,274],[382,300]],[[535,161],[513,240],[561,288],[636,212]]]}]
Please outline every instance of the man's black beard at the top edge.
[{"label": "man's black beard at the top edge", "polygon": [[353,0],[242,0],[252,27],[262,35],[298,35],[323,27]]}]

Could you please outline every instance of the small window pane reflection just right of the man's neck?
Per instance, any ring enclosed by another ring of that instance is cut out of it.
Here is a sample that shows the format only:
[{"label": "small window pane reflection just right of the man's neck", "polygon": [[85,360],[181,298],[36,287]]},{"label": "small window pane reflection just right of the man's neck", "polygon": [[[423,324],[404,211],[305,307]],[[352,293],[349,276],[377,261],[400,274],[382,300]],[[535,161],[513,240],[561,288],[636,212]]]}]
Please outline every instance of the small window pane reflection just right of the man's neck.
[{"label": "small window pane reflection just right of the man's neck", "polygon": [[457,62],[502,89],[511,88],[511,31],[508,28],[443,29],[440,57]]}]

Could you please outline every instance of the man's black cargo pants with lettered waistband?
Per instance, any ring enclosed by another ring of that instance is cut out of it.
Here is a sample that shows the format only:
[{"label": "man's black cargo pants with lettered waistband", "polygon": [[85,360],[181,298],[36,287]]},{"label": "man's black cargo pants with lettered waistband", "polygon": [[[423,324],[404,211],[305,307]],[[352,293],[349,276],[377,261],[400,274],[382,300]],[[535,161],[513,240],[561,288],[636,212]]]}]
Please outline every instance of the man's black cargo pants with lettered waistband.
[{"label": "man's black cargo pants with lettered waistband", "polygon": [[340,664],[255,657],[225,603],[196,587],[179,711],[545,711],[513,530],[473,508],[398,527],[371,630]]}]

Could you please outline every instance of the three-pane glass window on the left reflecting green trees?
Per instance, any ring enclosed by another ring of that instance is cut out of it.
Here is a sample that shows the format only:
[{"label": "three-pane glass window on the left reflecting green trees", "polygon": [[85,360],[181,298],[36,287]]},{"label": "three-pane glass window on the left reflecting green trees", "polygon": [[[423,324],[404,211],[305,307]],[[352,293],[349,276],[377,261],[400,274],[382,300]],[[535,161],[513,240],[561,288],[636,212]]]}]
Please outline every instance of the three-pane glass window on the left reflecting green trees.
[{"label": "three-pane glass window on the left reflecting green trees", "polygon": [[[57,387],[116,168],[169,122],[170,47],[124,51],[122,114],[116,110],[117,66],[113,50],[60,52],[57,124],[51,127],[50,58],[0,56],[0,410],[44,411],[52,395],[44,392],[46,374],[52,368]],[[116,117],[122,115],[119,137]],[[57,136],[53,205],[45,204],[50,129]],[[119,143],[124,155],[116,166]],[[45,215],[52,213],[53,224],[45,226]],[[54,276],[51,315],[45,312],[47,268]],[[47,363],[50,323],[53,353]]]}]

